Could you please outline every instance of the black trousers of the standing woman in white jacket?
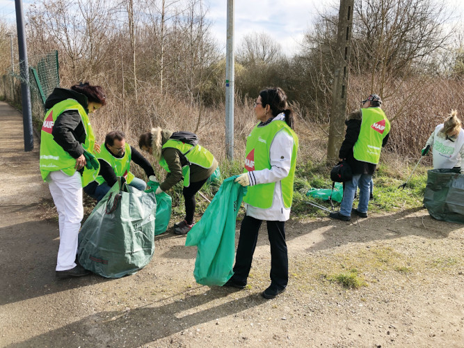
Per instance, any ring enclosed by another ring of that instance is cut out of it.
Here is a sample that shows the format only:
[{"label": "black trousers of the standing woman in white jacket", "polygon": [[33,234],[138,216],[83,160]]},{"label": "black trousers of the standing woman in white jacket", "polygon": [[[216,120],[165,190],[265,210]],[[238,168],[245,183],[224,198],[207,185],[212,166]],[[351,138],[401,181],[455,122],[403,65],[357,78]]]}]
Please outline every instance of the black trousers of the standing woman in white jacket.
[{"label": "black trousers of the standing woman in white jacket", "polygon": [[[239,285],[246,285],[250,274],[253,253],[255,253],[258,231],[262,220],[245,216],[241,221],[239,246],[235,256],[234,276],[232,280]],[[271,244],[271,285],[282,289],[289,281],[289,260],[285,243],[285,221],[266,221],[267,234]]]}]

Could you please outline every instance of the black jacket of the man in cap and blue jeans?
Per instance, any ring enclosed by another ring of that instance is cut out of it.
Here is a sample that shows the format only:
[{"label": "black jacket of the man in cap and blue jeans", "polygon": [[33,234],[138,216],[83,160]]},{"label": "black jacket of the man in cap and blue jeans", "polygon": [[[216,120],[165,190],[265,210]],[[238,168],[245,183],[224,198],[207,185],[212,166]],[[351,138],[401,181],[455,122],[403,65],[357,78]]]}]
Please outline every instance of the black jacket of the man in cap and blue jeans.
[{"label": "black jacket of the man in cap and blue jeans", "polygon": [[[341,159],[346,159],[349,166],[351,167],[351,171],[353,174],[374,174],[376,171],[376,164],[371,164],[363,161],[358,161],[358,159],[354,158],[353,155],[353,146],[355,145],[356,141],[358,141],[359,132],[361,130],[361,121],[362,121],[362,113],[361,110],[354,111],[349,114],[348,118],[345,120],[346,125],[346,134],[345,139],[340,147],[338,157]],[[388,141],[388,133],[382,141],[382,147]]]}]

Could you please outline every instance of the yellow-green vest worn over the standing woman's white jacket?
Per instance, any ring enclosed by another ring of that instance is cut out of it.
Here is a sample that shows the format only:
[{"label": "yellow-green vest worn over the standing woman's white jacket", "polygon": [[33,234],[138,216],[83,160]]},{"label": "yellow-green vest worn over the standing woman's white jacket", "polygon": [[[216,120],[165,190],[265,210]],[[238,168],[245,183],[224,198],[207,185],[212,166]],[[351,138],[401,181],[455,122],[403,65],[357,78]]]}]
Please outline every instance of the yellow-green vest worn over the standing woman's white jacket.
[{"label": "yellow-green vest worn over the standing woman's white jacket", "polygon": [[[275,120],[264,127],[253,128],[248,140],[246,141],[246,159],[243,173],[248,171],[261,171],[262,169],[271,169],[271,158],[269,150],[275,134],[278,132],[287,132],[294,139],[294,147],[291,152],[291,167],[289,175],[280,180],[282,188],[282,201],[286,208],[291,207],[293,199],[293,185],[296,166],[296,153],[298,152],[298,136],[293,129],[287,125],[287,122]],[[246,196],[243,202],[262,209],[268,209],[272,206],[274,196],[275,182],[267,184],[257,184],[247,188]]]}]

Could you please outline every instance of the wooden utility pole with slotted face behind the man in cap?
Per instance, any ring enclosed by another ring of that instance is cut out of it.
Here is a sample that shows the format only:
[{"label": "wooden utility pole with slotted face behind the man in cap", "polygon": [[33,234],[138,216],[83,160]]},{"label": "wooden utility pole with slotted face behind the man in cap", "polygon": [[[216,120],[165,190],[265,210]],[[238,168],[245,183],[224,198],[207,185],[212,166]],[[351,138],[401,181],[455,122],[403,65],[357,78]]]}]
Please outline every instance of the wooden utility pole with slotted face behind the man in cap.
[{"label": "wooden utility pole with slotted face behind the man in cap", "polygon": [[333,74],[332,109],[328,134],[327,161],[332,164],[338,159],[338,152],[345,133],[346,95],[351,51],[351,31],[353,29],[354,0],[340,0],[338,13],[337,47],[335,47],[335,69]]}]

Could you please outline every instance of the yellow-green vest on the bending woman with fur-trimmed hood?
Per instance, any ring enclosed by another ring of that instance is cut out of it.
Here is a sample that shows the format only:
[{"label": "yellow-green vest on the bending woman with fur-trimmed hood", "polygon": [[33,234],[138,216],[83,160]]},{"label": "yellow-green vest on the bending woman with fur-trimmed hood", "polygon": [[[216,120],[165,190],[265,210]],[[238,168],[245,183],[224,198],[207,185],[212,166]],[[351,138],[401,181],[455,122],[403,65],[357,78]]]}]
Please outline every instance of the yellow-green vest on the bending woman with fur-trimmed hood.
[{"label": "yellow-green vest on the bending woman with fur-trimmed hood", "polygon": [[[175,148],[182,152],[182,155],[187,159],[187,164],[182,167],[182,176],[184,177],[184,187],[190,186],[190,165],[196,164],[197,166],[203,168],[211,168],[213,166],[214,156],[207,149],[203,148],[201,145],[191,145],[187,143],[182,143],[182,141],[168,139],[163,145],[165,148]],[[166,160],[161,157],[159,160],[159,165],[166,169],[169,173],[169,166],[166,163]]]}]

